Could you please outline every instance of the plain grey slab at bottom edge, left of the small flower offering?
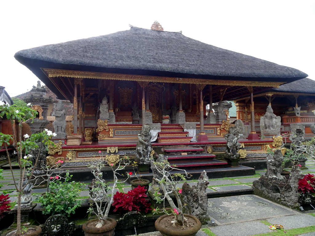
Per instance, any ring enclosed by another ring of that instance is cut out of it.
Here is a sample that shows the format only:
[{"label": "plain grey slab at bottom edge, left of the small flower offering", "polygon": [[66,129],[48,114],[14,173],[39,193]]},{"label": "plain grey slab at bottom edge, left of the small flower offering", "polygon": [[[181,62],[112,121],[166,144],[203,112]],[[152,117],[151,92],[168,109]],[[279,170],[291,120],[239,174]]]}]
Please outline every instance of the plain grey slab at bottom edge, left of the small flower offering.
[{"label": "plain grey slab at bottom edge, left of the small flower offering", "polygon": [[259,221],[221,225],[209,229],[218,236],[249,236],[271,231],[267,225]]}]

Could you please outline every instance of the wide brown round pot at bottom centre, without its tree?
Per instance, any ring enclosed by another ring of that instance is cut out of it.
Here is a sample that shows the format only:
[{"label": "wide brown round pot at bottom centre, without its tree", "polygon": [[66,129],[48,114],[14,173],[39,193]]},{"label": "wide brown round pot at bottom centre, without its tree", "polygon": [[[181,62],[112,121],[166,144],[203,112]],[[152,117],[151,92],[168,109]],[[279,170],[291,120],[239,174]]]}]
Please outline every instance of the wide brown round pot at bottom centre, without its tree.
[{"label": "wide brown round pot at bottom centre, without its tree", "polygon": [[196,233],[201,228],[201,222],[195,216],[191,216],[191,215],[187,215],[187,214],[184,214],[184,216],[186,218],[191,218],[191,219],[195,220],[197,224],[193,227],[189,227],[189,228],[182,229],[182,230],[172,230],[172,229],[169,229],[168,227],[164,227],[160,224],[161,220],[163,220],[164,218],[172,217],[169,215],[163,215],[163,216],[160,216],[159,218],[157,218],[154,226],[158,231],[160,231],[160,233],[163,236],[194,236],[194,235],[196,235]]}]

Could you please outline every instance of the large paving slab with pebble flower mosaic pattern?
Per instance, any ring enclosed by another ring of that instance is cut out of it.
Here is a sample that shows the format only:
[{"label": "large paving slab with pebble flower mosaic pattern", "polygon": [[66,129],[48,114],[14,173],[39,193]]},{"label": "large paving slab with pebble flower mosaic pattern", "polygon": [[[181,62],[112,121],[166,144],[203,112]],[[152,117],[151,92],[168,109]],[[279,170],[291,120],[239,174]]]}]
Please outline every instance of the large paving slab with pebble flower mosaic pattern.
[{"label": "large paving slab with pebble flower mosaic pattern", "polygon": [[[301,213],[249,194],[209,199],[208,214],[210,218],[215,219],[218,225],[226,225]],[[276,223],[275,221],[270,223],[273,222]],[[313,218],[313,222],[315,224],[315,218]]]}]

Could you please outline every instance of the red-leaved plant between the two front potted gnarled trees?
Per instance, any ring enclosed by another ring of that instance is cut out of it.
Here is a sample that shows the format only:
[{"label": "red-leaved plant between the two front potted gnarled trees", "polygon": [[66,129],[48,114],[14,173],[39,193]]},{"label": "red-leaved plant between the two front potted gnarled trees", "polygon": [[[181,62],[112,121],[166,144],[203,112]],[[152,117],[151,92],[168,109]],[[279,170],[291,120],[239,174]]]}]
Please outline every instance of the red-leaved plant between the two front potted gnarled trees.
[{"label": "red-leaved plant between the two front potted gnarled trees", "polygon": [[113,204],[115,206],[114,212],[118,211],[123,214],[128,211],[145,211],[146,213],[151,209],[151,204],[146,199],[146,190],[144,186],[138,185],[137,188],[129,190],[128,193],[119,193],[114,195]]}]

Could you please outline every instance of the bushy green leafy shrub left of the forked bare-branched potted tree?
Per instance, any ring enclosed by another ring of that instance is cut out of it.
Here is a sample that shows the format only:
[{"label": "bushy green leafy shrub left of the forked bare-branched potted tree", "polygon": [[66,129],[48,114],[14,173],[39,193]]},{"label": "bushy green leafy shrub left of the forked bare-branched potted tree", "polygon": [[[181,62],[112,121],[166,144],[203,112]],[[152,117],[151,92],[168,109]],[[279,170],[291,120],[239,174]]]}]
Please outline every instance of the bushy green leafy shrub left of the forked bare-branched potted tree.
[{"label": "bushy green leafy shrub left of the forked bare-branched potted tree", "polygon": [[38,202],[42,204],[43,214],[62,214],[70,216],[81,205],[82,201],[77,200],[80,191],[83,190],[83,184],[79,182],[70,182],[72,175],[66,173],[65,182],[60,181],[60,177],[51,177],[49,183],[50,192],[38,197]]}]

